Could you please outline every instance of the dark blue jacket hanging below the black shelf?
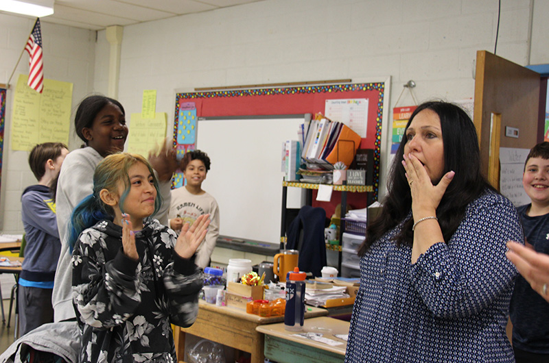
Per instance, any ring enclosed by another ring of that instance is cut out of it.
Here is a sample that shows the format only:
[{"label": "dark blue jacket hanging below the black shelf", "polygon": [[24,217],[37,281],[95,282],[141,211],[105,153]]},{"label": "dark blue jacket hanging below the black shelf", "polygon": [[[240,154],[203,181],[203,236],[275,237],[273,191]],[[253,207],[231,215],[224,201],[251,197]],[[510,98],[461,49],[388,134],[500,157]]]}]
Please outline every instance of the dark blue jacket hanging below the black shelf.
[{"label": "dark blue jacket hanging below the black shelf", "polygon": [[326,266],[325,221],[323,208],[305,205],[288,228],[286,248],[298,250],[299,270],[311,272],[314,276],[321,276],[320,270]]}]

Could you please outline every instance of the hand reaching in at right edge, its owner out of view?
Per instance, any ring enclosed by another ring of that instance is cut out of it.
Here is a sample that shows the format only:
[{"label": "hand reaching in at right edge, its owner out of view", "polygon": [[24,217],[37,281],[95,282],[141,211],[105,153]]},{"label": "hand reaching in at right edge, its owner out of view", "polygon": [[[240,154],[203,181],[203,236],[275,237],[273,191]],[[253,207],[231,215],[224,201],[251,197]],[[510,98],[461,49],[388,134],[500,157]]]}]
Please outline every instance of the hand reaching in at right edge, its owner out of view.
[{"label": "hand reaching in at right edge, its owner out of view", "polygon": [[505,255],[509,261],[517,266],[532,289],[549,302],[549,255],[513,241],[507,242],[507,247]]}]

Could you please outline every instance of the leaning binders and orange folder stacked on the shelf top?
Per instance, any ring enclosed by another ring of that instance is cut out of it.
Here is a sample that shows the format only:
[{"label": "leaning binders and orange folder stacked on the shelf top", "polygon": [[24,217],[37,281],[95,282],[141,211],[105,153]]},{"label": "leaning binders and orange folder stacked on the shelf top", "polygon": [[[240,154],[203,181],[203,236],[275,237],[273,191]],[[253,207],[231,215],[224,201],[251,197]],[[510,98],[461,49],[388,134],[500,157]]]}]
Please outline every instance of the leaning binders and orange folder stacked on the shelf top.
[{"label": "leaning binders and orange folder stacked on the shelf top", "polygon": [[360,135],[347,125],[317,114],[309,123],[301,158],[326,170],[333,170],[336,162],[343,162],[349,168],[360,141]]}]

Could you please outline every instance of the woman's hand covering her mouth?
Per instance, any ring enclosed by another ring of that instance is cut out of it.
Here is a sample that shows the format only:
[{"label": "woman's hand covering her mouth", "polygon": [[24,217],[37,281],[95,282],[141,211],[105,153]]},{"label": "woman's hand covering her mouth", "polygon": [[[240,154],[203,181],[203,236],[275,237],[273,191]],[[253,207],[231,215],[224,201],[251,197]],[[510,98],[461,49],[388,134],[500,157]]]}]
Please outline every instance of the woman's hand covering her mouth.
[{"label": "woman's hand covering her mouth", "polygon": [[414,219],[423,218],[424,216],[434,216],[436,208],[439,207],[441,199],[446,192],[446,188],[454,178],[455,173],[449,171],[441,178],[439,184],[433,185],[425,166],[411,153],[404,155],[402,160],[404,170],[406,171],[406,179],[410,186],[412,194],[412,213]]}]

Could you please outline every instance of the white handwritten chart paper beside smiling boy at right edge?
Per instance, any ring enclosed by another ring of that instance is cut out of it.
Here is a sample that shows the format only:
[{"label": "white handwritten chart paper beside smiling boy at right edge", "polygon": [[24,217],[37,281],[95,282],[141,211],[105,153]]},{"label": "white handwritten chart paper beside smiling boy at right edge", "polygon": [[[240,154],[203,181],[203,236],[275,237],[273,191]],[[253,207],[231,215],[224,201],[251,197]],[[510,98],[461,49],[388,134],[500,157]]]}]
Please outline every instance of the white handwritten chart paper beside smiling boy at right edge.
[{"label": "white handwritten chart paper beside smiling boy at right edge", "polygon": [[530,198],[522,187],[522,173],[528,152],[528,149],[500,147],[500,192],[515,207],[530,203]]}]

